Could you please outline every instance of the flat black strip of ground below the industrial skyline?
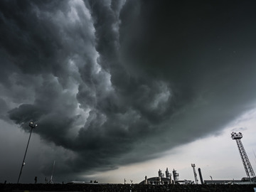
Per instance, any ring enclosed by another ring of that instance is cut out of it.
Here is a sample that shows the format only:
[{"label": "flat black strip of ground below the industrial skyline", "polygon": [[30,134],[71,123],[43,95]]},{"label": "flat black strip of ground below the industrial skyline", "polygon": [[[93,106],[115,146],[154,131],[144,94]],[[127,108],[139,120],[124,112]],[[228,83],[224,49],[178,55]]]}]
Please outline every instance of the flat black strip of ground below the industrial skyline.
[{"label": "flat black strip of ground below the industrial skyline", "polygon": [[255,192],[256,185],[3,184],[0,191],[220,191]]}]

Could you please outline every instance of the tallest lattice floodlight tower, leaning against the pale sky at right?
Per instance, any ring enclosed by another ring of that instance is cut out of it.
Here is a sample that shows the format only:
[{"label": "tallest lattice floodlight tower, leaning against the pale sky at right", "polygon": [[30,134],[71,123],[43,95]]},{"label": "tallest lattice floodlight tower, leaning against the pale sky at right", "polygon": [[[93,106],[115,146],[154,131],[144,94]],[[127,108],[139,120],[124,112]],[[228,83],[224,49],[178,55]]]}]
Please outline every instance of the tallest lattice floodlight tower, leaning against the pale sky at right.
[{"label": "tallest lattice floodlight tower, leaning against the pale sky at right", "polygon": [[249,178],[252,178],[252,177],[255,177],[255,173],[252,169],[252,166],[250,164],[250,161],[248,159],[248,156],[245,152],[245,148],[242,146],[242,142],[241,142],[241,139],[242,139],[242,133],[235,133],[235,132],[232,132],[231,134],[231,138],[232,139],[235,139],[235,141],[237,142],[238,144],[238,150],[240,152],[240,156],[242,158],[242,164],[244,165],[245,167],[245,172],[247,174],[247,177]]}]

